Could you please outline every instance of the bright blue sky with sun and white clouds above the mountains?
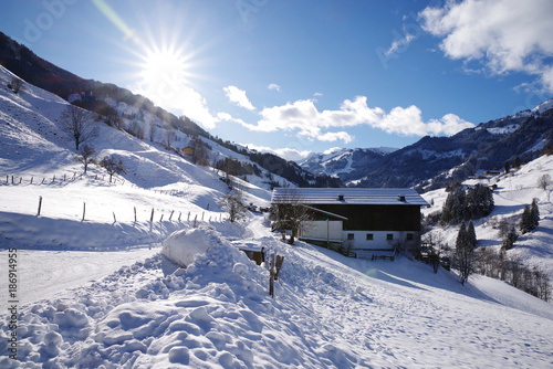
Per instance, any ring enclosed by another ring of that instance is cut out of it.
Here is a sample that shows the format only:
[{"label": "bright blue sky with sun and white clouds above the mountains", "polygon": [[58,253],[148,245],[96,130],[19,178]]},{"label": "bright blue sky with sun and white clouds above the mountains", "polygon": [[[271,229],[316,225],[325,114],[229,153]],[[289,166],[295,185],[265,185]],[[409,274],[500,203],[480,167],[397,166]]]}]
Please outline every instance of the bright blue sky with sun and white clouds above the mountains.
[{"label": "bright blue sky with sun and white clouds above the mountains", "polygon": [[553,92],[553,2],[2,1],[0,31],[290,159],[404,147]]}]

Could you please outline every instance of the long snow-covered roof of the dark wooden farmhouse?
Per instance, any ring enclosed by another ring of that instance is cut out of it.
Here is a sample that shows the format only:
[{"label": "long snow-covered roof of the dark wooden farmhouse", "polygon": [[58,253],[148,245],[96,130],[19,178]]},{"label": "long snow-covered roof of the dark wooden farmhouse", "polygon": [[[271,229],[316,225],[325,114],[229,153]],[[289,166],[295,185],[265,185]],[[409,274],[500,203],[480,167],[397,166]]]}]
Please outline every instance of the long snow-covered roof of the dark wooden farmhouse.
[{"label": "long snow-covered roof of the dark wooden farmhouse", "polygon": [[311,204],[409,204],[428,205],[410,188],[284,188],[273,189],[271,202],[299,201]]}]

